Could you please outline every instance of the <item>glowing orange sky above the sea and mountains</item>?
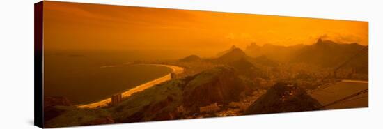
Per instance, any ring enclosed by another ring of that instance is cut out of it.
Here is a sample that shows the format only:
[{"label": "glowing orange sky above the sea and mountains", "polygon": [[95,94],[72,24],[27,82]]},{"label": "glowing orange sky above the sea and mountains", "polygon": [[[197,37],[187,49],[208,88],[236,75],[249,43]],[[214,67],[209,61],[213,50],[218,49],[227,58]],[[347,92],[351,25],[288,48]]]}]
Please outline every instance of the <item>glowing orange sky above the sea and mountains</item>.
[{"label": "glowing orange sky above the sea and mountains", "polygon": [[368,22],[45,1],[45,50],[185,50],[312,44],[368,45]]}]

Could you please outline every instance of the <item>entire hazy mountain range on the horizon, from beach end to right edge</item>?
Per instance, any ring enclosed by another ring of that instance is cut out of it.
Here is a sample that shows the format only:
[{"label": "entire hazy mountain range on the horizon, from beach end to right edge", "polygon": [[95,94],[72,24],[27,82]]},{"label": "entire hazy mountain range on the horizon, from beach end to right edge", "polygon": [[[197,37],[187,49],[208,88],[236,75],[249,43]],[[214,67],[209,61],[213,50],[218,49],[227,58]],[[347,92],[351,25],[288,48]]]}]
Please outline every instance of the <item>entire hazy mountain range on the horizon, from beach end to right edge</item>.
[{"label": "entire hazy mountain range on the horizon, from beach end to right edge", "polygon": [[[245,51],[233,45],[228,50],[219,52],[217,58],[201,59],[199,56],[187,56],[179,61],[211,61],[230,66],[278,66],[279,63],[307,63],[325,68],[336,68],[347,62],[345,67],[356,68],[362,73],[368,72],[368,46],[357,43],[335,43],[331,40],[318,39],[313,45],[256,45],[252,43]],[[366,50],[366,52],[361,52]],[[357,55],[361,53],[360,55]],[[357,56],[355,56],[357,55]]]}]

